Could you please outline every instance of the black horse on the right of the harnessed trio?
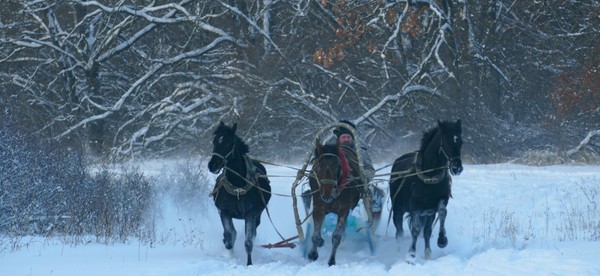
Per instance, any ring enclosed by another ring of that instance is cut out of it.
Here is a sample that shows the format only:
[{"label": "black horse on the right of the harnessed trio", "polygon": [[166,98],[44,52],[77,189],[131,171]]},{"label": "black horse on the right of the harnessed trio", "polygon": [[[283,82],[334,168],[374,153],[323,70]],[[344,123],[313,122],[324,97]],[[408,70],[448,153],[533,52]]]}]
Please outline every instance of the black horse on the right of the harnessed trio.
[{"label": "black horse on the right of the harnessed trio", "polygon": [[418,151],[394,161],[390,179],[393,220],[396,238],[400,238],[404,234],[404,213],[409,214],[412,244],[406,257],[408,262],[416,260],[417,238],[421,230],[425,240],[425,259],[431,258],[429,239],[436,213],[440,222],[437,244],[440,248],[448,244],[444,226],[446,206],[451,197],[450,174],[459,175],[463,170],[461,132],[460,119],[456,122],[438,121],[436,127],[423,134]]}]

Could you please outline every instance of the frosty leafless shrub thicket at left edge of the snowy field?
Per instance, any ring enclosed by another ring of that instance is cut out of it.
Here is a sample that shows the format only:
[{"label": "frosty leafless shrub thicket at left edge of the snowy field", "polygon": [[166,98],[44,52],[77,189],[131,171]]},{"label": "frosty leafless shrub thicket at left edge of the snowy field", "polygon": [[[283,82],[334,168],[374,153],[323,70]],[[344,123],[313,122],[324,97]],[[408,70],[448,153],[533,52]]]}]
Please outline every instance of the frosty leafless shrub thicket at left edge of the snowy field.
[{"label": "frosty leafless shrub thicket at left edge of the snowy field", "polygon": [[139,170],[91,174],[81,151],[37,142],[6,121],[0,141],[0,235],[151,236],[144,215],[154,192]]}]

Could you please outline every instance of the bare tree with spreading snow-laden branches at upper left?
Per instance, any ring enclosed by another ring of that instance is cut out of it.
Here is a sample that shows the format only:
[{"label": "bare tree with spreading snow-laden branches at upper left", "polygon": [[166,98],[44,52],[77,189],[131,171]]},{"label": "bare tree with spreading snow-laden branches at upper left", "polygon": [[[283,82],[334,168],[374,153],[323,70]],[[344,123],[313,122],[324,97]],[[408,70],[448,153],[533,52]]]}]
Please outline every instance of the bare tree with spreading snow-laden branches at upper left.
[{"label": "bare tree with spreading snow-laden branches at upper left", "polygon": [[118,154],[177,145],[235,109],[229,84],[247,81],[231,50],[245,45],[210,23],[225,11],[194,2],[11,2],[25,17],[3,39],[3,62],[23,69],[3,79],[45,113],[38,127],[55,138],[86,128]]}]

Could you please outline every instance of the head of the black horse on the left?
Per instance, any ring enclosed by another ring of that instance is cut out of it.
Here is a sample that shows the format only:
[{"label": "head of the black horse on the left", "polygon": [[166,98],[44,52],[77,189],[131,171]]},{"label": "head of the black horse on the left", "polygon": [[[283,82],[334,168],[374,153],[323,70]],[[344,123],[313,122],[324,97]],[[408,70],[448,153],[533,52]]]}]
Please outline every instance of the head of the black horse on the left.
[{"label": "head of the black horse on the left", "polygon": [[212,173],[219,173],[225,167],[227,160],[231,160],[235,154],[236,138],[235,131],[237,123],[231,127],[223,122],[215,130],[213,139],[213,152],[208,162],[208,170]]}]

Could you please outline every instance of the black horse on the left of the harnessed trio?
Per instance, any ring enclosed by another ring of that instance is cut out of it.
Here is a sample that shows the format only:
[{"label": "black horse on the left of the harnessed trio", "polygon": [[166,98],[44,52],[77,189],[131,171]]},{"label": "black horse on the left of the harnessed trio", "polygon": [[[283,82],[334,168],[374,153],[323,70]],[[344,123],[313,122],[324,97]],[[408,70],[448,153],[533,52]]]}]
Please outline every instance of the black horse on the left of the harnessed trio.
[{"label": "black horse on the left of the harnessed trio", "polygon": [[248,254],[246,265],[251,265],[256,228],[271,198],[271,186],[265,167],[246,155],[249,152],[248,145],[235,134],[236,129],[237,124],[231,127],[223,122],[219,124],[214,132],[213,153],[208,169],[212,173],[219,173],[224,169],[217,177],[211,196],[214,197],[221,216],[225,248],[232,249],[235,243],[237,233],[232,219],[245,220],[245,246]]}]

